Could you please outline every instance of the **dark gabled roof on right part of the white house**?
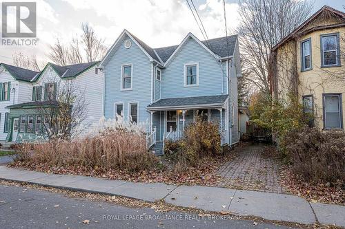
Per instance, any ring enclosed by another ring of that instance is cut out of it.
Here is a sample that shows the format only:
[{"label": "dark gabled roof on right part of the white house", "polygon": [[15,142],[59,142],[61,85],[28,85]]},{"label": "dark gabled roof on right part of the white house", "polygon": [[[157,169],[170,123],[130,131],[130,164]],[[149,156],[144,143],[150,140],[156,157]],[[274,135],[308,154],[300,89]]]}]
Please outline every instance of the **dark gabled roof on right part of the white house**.
[{"label": "dark gabled roof on right part of the white house", "polygon": [[43,72],[46,70],[48,66],[51,66],[52,69],[55,70],[55,72],[61,77],[61,78],[70,78],[70,77],[77,77],[79,74],[85,72],[90,67],[93,67],[94,65],[97,65],[99,61],[89,62],[89,63],[79,63],[75,65],[66,65],[66,66],[60,66],[55,65],[53,63],[48,63],[44,69],[37,74],[36,77],[32,78],[32,82],[37,81],[39,77],[43,74]]}]

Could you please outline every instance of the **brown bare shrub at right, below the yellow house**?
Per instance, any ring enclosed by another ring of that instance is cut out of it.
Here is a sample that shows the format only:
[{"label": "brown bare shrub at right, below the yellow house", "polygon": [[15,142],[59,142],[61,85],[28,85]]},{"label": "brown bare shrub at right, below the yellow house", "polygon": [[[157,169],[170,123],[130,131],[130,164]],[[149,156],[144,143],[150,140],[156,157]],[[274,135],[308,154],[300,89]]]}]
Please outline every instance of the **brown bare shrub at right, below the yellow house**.
[{"label": "brown bare shrub at right, below the yellow house", "polygon": [[291,131],[286,151],[295,173],[307,182],[345,188],[345,133],[316,128]]}]

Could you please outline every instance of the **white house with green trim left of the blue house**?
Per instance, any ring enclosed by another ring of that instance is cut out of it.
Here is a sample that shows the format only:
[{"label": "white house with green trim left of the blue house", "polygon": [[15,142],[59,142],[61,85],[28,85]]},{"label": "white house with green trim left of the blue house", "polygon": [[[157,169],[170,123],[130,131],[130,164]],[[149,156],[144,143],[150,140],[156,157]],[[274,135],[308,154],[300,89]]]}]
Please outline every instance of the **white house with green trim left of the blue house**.
[{"label": "white house with green trim left of the blue house", "polygon": [[23,142],[36,140],[37,136],[44,138],[45,120],[39,108],[56,105],[59,90],[66,85],[74,87],[76,94],[83,96],[86,101],[87,117],[81,123],[86,133],[88,127],[102,116],[103,74],[98,71],[98,64],[93,62],[62,67],[48,63],[41,72],[1,64],[1,84],[8,82],[10,91],[9,99],[0,103],[1,116],[6,116],[0,122],[4,128],[1,140]]}]

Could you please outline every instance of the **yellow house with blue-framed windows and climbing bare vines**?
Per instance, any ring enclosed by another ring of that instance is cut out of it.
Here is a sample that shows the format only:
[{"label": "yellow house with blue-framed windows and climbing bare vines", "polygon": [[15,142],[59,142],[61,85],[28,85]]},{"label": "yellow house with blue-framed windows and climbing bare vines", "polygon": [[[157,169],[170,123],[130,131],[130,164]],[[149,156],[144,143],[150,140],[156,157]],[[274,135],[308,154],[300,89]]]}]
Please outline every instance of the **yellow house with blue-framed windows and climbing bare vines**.
[{"label": "yellow house with blue-framed windows and climbing bare vines", "polygon": [[297,95],[311,126],[344,129],[345,13],[324,6],[272,50],[275,98]]}]

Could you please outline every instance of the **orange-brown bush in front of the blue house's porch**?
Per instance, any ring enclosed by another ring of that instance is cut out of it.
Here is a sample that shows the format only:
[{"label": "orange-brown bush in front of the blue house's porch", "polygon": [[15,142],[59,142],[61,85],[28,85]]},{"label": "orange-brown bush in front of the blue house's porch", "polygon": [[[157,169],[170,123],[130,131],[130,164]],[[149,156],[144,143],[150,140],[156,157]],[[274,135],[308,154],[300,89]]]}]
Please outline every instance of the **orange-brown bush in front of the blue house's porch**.
[{"label": "orange-brown bush in front of the blue house's porch", "polygon": [[175,168],[180,170],[186,166],[196,166],[206,157],[221,154],[221,134],[217,122],[206,122],[197,116],[195,122],[189,124],[181,140],[165,142],[164,153],[168,159],[175,162]]}]

